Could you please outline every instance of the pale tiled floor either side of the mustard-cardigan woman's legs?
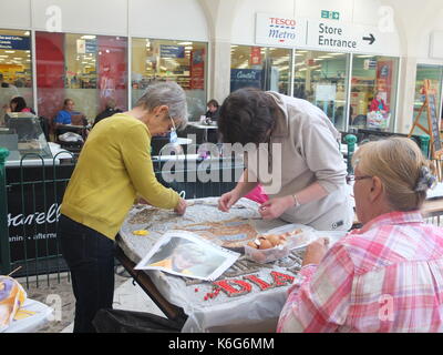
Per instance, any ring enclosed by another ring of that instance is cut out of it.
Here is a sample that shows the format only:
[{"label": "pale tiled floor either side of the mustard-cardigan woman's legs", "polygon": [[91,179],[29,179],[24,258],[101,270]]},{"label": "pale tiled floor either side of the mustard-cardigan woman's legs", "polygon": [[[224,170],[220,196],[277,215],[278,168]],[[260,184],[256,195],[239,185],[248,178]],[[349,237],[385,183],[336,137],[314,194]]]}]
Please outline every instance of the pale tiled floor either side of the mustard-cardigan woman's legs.
[{"label": "pale tiled floor either side of the mustard-cardigan woman's legs", "polygon": [[[18,281],[25,287],[27,281]],[[29,282],[27,288],[28,297],[54,307],[55,303],[61,303],[61,320],[54,320],[44,324],[37,333],[71,333],[73,329],[75,298],[72,293],[72,284],[68,274],[61,275],[60,282],[56,277],[48,281],[39,278],[37,287],[35,280]],[[56,301],[54,301],[56,300]],[[61,300],[61,302],[60,302]],[[154,313],[164,316],[162,311],[133,280],[117,268],[115,275],[114,308]]]}]

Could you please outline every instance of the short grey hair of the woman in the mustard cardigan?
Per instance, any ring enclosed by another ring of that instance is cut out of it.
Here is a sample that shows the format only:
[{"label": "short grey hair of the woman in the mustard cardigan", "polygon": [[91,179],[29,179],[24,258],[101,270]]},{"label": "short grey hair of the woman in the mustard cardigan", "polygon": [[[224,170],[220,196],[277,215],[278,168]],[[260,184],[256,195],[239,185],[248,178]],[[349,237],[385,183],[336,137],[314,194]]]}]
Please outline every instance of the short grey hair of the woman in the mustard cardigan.
[{"label": "short grey hair of the woman in the mustard cardigan", "polygon": [[185,91],[174,81],[155,82],[147,87],[135,106],[142,106],[148,111],[157,106],[167,105],[173,120],[178,120],[177,129],[184,129],[187,124],[187,103]]}]

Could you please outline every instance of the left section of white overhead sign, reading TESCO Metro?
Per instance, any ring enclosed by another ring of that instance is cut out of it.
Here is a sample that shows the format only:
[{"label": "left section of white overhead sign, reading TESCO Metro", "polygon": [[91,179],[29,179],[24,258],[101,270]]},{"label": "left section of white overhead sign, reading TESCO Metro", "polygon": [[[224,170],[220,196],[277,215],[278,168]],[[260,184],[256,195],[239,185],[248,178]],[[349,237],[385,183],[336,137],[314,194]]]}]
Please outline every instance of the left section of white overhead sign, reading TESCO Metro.
[{"label": "left section of white overhead sign, reading TESCO Metro", "polygon": [[296,47],[303,43],[306,21],[293,18],[257,13],[256,43],[281,47]]}]

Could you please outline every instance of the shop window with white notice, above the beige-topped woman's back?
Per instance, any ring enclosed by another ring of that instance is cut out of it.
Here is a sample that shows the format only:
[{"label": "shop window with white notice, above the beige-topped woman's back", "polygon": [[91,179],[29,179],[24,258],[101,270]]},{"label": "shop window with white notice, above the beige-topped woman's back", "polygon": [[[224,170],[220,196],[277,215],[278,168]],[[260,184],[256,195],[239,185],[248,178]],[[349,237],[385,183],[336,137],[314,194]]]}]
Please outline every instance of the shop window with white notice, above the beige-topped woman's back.
[{"label": "shop window with white notice, above the beige-topped woman's back", "polygon": [[349,54],[297,50],[295,55],[293,97],[318,106],[344,131]]}]

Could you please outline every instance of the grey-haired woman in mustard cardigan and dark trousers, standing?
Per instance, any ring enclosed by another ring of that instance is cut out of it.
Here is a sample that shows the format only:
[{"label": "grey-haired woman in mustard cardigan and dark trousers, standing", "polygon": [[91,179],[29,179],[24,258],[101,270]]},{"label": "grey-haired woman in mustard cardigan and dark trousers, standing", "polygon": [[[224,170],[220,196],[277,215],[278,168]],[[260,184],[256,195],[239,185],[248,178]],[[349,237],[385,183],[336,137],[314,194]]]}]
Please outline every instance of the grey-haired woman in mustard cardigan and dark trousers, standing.
[{"label": "grey-haired woman in mustard cardigan and dark trousers, standing", "polygon": [[151,138],[186,125],[186,95],[175,82],[150,85],[131,111],[99,122],[64,193],[58,235],[72,275],[74,332],[94,332],[114,295],[114,240],[137,193],[150,204],[186,211],[186,202],[155,178]]}]

